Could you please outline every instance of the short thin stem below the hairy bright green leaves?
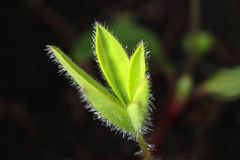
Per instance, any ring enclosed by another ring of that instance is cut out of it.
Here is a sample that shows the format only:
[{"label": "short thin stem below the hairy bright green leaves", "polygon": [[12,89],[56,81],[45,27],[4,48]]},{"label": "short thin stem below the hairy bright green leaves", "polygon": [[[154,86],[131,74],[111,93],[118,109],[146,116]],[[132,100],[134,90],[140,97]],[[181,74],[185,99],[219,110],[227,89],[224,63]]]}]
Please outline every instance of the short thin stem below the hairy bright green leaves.
[{"label": "short thin stem below the hairy bright green leaves", "polygon": [[145,142],[143,136],[138,136],[137,137],[137,142],[142,150],[142,155],[145,160],[153,160],[151,152],[149,151],[149,147],[147,143]]}]

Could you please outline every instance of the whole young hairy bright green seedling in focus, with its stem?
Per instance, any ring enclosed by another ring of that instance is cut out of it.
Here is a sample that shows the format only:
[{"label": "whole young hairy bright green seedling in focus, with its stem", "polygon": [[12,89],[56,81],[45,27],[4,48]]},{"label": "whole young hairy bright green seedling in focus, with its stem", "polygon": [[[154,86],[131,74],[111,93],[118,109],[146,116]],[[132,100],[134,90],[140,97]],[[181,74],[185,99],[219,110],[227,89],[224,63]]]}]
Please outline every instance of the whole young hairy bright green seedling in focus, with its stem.
[{"label": "whole young hairy bright green seedling in focus, with its stem", "polygon": [[131,58],[123,47],[99,23],[95,24],[95,54],[100,70],[110,89],[95,81],[56,46],[47,46],[50,57],[60,71],[76,84],[97,117],[136,140],[146,160],[151,160],[150,148],[143,135],[148,131],[150,88],[141,41]]}]

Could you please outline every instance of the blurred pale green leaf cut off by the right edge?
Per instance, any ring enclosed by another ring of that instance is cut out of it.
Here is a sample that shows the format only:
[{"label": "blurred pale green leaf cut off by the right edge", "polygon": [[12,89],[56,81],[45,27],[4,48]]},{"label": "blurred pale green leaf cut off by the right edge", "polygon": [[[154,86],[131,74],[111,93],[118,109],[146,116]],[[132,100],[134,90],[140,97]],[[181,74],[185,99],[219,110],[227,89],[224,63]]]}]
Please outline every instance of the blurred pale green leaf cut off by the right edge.
[{"label": "blurred pale green leaf cut off by the right edge", "polygon": [[240,97],[240,67],[221,69],[207,80],[202,89],[218,100],[233,100]]}]

